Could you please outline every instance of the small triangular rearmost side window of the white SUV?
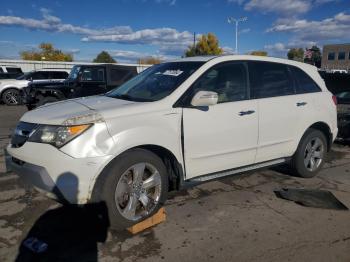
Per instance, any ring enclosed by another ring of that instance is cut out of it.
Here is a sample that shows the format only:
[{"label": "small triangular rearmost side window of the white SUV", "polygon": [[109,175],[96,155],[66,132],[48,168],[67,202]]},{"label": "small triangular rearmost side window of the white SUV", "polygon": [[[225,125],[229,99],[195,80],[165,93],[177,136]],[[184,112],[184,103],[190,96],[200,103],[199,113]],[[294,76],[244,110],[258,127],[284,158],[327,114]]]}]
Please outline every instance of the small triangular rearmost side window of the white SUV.
[{"label": "small triangular rearmost side window of the white SUV", "polygon": [[300,68],[290,67],[293,78],[296,82],[297,94],[320,92],[321,89],[312,78]]}]

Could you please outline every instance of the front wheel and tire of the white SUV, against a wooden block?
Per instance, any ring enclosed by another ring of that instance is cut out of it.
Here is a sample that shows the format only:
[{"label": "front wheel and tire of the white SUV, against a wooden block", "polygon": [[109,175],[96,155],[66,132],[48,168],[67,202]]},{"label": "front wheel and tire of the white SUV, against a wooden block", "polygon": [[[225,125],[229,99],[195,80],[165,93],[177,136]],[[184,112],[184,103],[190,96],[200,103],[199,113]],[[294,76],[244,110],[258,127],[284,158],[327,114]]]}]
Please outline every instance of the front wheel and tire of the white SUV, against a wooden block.
[{"label": "front wheel and tire of the white SUV, against a wooden block", "polygon": [[114,229],[125,229],[152,216],[167,199],[166,167],[148,150],[122,154],[101,175],[103,182],[94,190],[93,201],[106,202]]}]

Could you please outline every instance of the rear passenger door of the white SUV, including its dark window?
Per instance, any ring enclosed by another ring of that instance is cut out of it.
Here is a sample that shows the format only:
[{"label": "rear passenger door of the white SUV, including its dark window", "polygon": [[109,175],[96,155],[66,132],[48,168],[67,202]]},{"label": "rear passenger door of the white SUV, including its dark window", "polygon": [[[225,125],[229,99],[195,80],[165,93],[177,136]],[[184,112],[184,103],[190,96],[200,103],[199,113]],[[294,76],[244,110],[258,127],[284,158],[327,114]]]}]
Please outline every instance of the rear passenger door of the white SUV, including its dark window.
[{"label": "rear passenger door of the white SUV, including its dark window", "polygon": [[251,95],[259,108],[256,163],[291,156],[300,116],[299,98],[288,66],[272,62],[249,62],[249,76]]}]

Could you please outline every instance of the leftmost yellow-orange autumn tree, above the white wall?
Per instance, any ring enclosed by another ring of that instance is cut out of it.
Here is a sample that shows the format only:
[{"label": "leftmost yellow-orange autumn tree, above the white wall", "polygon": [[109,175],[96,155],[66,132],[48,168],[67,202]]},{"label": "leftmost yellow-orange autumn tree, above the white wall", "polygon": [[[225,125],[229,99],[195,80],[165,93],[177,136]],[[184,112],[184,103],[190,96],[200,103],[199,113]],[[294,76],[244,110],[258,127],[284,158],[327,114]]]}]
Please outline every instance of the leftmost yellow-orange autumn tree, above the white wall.
[{"label": "leftmost yellow-orange autumn tree, above the white wall", "polygon": [[70,53],[64,53],[59,49],[55,49],[51,43],[41,43],[39,50],[22,51],[20,56],[23,60],[35,60],[35,61],[64,61],[72,62],[73,55]]}]

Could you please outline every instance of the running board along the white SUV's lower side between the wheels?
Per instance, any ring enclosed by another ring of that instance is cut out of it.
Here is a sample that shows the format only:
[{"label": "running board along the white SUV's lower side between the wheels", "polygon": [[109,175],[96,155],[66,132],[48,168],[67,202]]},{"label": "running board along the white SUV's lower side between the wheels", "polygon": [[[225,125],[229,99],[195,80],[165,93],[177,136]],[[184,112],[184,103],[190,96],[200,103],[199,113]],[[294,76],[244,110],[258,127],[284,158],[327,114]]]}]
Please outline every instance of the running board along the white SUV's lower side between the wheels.
[{"label": "running board along the white SUV's lower side between the wheels", "polygon": [[231,169],[231,170],[227,170],[227,171],[216,172],[216,173],[212,173],[212,174],[208,174],[208,175],[204,175],[204,176],[200,176],[200,177],[191,178],[189,180],[186,180],[185,182],[200,183],[200,182],[214,180],[214,179],[218,179],[218,178],[222,178],[222,177],[226,177],[226,176],[231,176],[231,175],[235,175],[235,174],[239,174],[239,173],[244,173],[244,172],[255,170],[255,169],[270,167],[270,166],[282,164],[285,162],[287,162],[286,158],[279,158],[279,159],[275,159],[275,160],[271,160],[271,161],[262,162],[259,164],[244,166],[244,167],[240,167],[240,168],[236,168],[236,169]]}]

